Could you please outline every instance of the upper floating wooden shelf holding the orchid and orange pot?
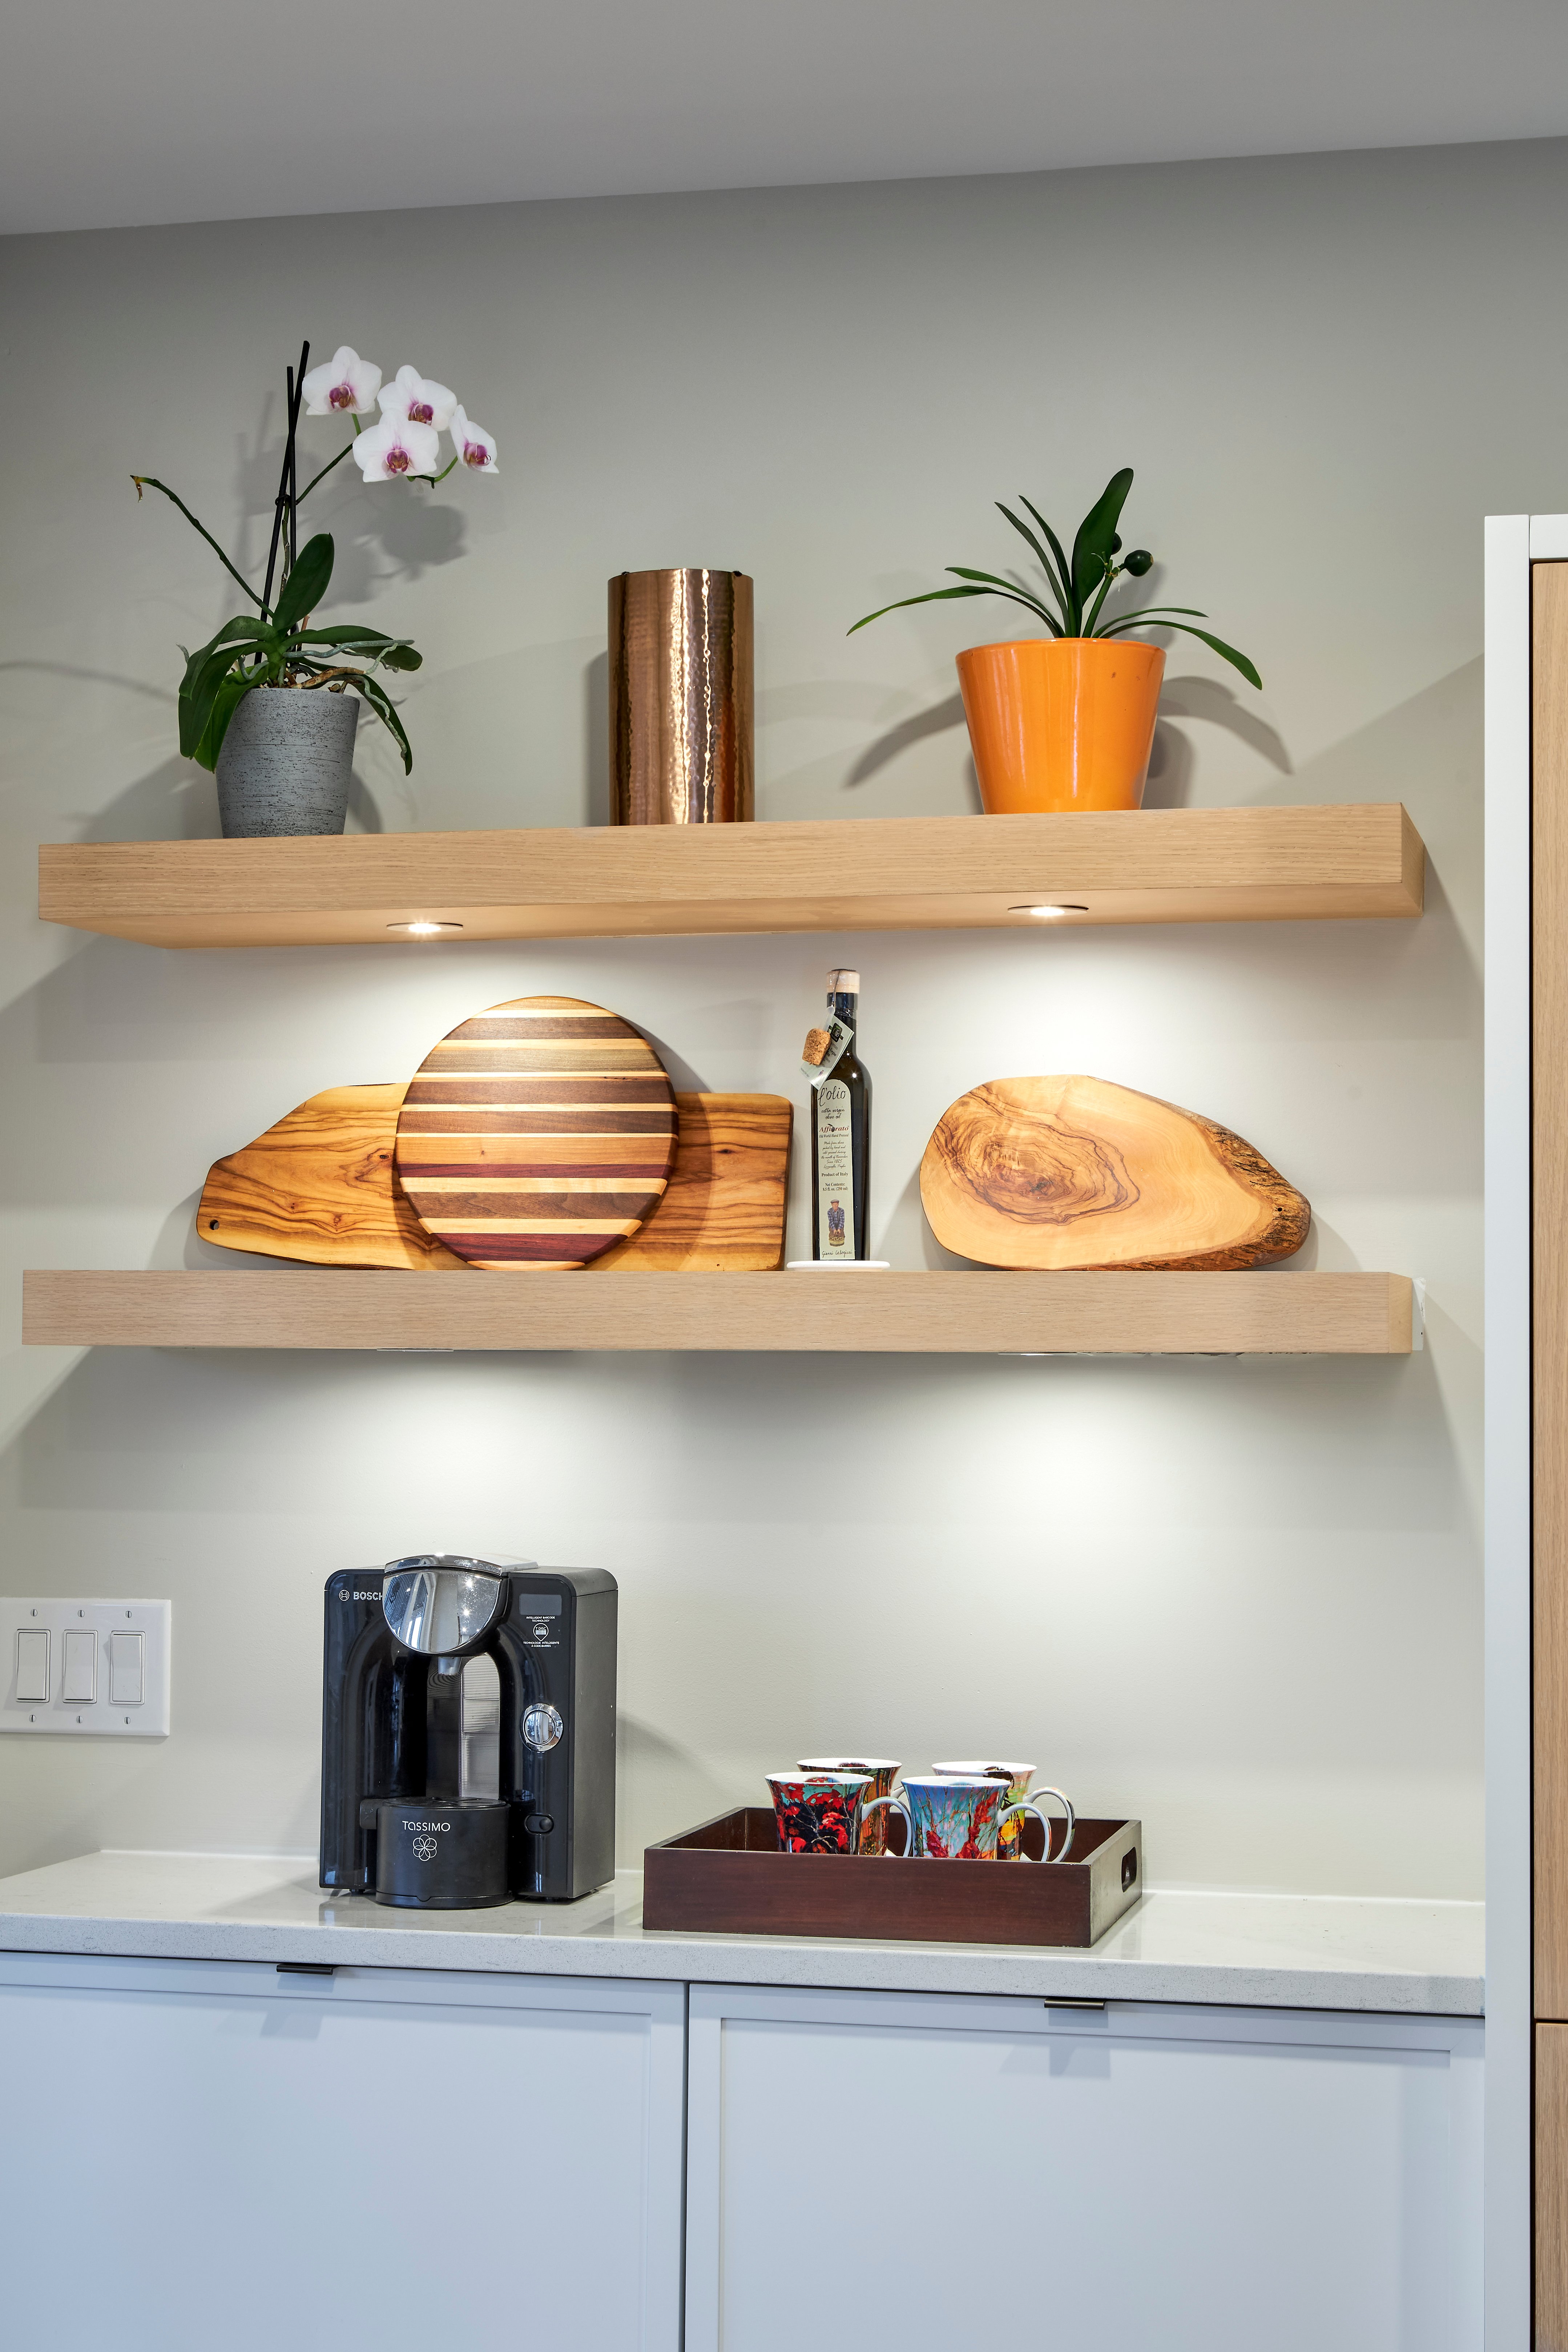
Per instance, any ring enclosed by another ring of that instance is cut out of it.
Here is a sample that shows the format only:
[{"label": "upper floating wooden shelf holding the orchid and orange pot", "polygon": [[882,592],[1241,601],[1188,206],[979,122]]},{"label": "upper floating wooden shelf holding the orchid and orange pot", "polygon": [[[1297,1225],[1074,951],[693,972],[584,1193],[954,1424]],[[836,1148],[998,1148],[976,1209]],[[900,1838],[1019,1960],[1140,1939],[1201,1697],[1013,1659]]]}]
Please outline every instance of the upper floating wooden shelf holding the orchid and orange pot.
[{"label": "upper floating wooden shelf holding the orchid and orange pot", "polygon": [[[1420,915],[1399,802],[903,816],[788,826],[350,833],[282,842],[47,842],[45,922],[155,948],[677,931],[952,931],[1058,922]],[[456,934],[454,934],[456,936]]]}]

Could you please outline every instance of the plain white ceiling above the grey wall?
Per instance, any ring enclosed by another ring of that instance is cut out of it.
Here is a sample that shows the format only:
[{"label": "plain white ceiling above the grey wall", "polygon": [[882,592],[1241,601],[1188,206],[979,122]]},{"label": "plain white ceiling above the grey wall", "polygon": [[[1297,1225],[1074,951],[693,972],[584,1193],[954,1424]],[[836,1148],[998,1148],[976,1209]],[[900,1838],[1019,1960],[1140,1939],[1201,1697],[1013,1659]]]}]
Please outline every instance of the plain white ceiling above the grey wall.
[{"label": "plain white ceiling above the grey wall", "polygon": [[1568,0],[9,0],[0,230],[1568,132]]}]

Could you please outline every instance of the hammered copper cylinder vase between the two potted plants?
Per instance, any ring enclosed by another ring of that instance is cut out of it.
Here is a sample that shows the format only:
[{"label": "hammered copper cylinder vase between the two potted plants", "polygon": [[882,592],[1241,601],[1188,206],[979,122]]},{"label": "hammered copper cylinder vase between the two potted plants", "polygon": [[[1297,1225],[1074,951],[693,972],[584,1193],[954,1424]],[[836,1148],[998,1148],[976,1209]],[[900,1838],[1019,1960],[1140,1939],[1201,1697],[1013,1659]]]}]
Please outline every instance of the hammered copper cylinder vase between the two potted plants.
[{"label": "hammered copper cylinder vase between the two potted plants", "polygon": [[609,583],[616,826],[752,816],[752,583],[745,572],[621,572]]}]

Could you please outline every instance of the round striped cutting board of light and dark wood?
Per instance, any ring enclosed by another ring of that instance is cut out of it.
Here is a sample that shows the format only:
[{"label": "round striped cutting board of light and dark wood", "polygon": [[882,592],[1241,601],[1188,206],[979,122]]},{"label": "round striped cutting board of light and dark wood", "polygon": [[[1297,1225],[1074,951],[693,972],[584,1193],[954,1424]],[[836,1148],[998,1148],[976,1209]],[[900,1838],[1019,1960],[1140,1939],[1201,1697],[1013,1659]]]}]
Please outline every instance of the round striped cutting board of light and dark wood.
[{"label": "round striped cutting board of light and dark wood", "polygon": [[585,1265],[654,1214],[672,1164],[658,1054],[578,997],[517,997],[465,1021],[397,1115],[414,1214],[470,1265]]}]

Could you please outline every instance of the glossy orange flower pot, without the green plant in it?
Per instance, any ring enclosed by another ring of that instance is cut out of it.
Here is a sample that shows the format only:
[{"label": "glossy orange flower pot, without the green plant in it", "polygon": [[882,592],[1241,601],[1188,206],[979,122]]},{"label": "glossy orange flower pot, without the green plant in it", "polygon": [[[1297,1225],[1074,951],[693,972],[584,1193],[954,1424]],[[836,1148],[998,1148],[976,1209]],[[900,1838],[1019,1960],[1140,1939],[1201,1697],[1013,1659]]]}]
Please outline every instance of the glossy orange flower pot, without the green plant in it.
[{"label": "glossy orange flower pot, without the green plant in it", "polygon": [[987,816],[1135,809],[1166,656],[1131,637],[1023,637],[959,654]]}]

